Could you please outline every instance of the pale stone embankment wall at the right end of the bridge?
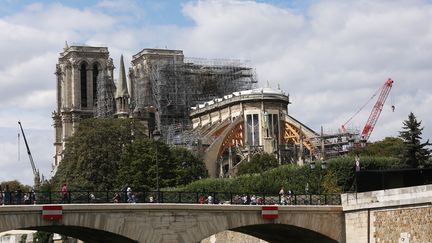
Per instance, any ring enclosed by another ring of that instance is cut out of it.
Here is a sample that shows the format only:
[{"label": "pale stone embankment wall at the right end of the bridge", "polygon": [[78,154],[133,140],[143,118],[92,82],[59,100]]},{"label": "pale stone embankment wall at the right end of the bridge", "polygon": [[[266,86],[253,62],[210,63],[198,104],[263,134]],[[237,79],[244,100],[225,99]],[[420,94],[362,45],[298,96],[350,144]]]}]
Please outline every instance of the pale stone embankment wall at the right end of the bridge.
[{"label": "pale stone embankment wall at the right end of the bridge", "polygon": [[432,185],[342,195],[346,242],[432,242]]}]

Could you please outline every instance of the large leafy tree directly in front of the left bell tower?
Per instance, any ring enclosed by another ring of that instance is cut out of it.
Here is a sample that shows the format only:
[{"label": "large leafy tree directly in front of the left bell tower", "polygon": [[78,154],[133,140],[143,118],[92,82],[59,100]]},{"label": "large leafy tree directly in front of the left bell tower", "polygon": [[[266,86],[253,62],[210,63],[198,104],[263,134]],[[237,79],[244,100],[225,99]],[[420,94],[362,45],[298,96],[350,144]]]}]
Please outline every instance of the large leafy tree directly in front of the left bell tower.
[{"label": "large leafy tree directly in front of the left bell tower", "polygon": [[67,141],[64,159],[53,178],[73,189],[113,189],[124,148],[146,137],[145,127],[131,119],[86,119]]}]

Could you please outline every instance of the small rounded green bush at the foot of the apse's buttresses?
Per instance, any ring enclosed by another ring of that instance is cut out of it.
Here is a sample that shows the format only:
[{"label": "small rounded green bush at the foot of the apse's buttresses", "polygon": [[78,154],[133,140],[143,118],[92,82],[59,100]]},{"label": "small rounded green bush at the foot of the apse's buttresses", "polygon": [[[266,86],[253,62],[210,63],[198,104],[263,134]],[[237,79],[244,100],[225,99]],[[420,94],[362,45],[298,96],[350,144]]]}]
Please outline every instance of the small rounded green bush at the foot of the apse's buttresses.
[{"label": "small rounded green bush at the foot of the apse's buttresses", "polygon": [[268,153],[260,153],[252,156],[249,162],[243,161],[238,170],[238,175],[262,173],[279,166],[277,158]]}]

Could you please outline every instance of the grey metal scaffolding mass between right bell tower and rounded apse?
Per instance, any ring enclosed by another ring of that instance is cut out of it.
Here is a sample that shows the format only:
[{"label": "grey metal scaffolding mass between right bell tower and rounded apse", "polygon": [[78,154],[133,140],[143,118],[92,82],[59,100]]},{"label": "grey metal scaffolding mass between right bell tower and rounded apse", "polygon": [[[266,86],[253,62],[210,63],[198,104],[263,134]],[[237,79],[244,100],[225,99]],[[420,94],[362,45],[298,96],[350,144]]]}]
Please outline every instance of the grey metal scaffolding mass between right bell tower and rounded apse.
[{"label": "grey metal scaffolding mass between right bell tower and rounded apse", "polygon": [[255,70],[240,60],[148,56],[133,73],[134,111],[155,113],[156,127],[165,142],[187,145],[190,107],[249,90],[256,86]]}]

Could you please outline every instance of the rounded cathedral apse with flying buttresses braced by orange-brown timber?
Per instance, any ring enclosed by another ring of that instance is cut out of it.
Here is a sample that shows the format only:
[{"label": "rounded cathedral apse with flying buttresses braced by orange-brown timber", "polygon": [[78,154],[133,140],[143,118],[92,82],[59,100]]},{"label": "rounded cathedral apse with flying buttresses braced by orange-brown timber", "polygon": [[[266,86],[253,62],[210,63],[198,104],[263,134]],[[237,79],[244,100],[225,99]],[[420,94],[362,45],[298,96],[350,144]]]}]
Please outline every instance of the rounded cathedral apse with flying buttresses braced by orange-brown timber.
[{"label": "rounded cathedral apse with flying buttresses braced by orange-brown timber", "polygon": [[204,148],[211,177],[229,177],[255,153],[274,154],[279,163],[314,159],[317,134],[288,114],[289,95],[258,88],[225,95],[192,108],[193,131]]}]

